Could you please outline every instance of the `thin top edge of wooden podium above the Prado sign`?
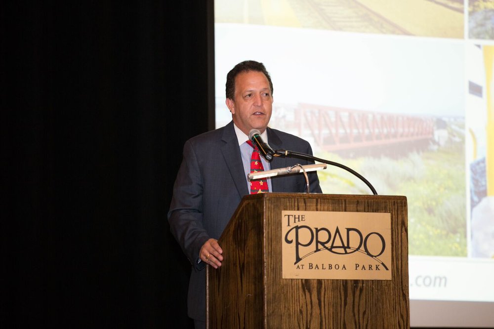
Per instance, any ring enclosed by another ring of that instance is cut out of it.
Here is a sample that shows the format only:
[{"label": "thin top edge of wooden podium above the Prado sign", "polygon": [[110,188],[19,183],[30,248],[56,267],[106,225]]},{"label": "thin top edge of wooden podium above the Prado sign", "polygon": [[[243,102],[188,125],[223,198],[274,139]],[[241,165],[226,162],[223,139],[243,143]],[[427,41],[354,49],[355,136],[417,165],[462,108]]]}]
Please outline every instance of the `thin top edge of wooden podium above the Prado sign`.
[{"label": "thin top edge of wooden podium above the Prado sign", "polygon": [[258,193],[244,196],[246,199],[285,199],[285,198],[301,198],[301,199],[333,199],[333,200],[395,200],[407,201],[406,196],[396,195],[372,195],[372,194],[324,194],[324,193],[281,193],[269,192]]}]

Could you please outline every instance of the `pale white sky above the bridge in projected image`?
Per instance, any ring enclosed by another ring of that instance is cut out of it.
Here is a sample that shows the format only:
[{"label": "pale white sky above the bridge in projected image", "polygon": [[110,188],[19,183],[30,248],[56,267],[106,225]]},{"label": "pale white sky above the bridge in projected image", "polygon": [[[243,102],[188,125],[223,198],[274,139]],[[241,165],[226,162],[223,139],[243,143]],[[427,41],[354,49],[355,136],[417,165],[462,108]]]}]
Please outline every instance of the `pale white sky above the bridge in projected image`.
[{"label": "pale white sky above the bridge in projected image", "polygon": [[[216,53],[216,77],[242,60],[261,61],[275,105],[464,115],[461,42],[243,24],[216,24],[215,31],[215,42],[225,45]],[[216,79],[216,98],[224,99],[223,79]]]}]

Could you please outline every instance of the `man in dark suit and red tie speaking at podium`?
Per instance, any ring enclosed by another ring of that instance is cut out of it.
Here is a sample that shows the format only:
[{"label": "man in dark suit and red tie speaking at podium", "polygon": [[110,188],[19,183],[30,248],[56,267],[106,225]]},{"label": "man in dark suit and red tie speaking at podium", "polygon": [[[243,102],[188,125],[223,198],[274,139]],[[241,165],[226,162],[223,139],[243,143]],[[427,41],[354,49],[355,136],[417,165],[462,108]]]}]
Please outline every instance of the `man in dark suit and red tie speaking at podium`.
[{"label": "man in dark suit and red tie speaking at podium", "polygon": [[[232,122],[191,138],[185,143],[183,161],[173,189],[168,212],[170,229],[192,264],[188,314],[196,328],[206,326],[206,265],[221,266],[223,250],[217,239],[242,197],[249,194],[252,147],[248,133],[258,129],[274,149],[312,154],[309,143],[267,127],[273,104],[273,84],[262,63],[245,61],[227,75],[226,105]],[[306,160],[275,157],[261,159],[264,170],[308,164]],[[321,193],[315,172],[309,173],[310,191]],[[304,193],[301,174],[268,179],[269,192]],[[225,259],[228,261],[228,259]]]}]

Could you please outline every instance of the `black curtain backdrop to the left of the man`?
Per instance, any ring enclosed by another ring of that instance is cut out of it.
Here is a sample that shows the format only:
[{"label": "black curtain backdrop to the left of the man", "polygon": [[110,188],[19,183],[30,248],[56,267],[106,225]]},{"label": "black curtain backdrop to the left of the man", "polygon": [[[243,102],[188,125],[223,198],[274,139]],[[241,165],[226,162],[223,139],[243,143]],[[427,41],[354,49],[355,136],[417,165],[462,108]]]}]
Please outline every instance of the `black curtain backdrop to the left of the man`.
[{"label": "black curtain backdrop to the left of the man", "polygon": [[212,128],[212,1],[1,7],[0,327],[192,328],[166,213]]}]

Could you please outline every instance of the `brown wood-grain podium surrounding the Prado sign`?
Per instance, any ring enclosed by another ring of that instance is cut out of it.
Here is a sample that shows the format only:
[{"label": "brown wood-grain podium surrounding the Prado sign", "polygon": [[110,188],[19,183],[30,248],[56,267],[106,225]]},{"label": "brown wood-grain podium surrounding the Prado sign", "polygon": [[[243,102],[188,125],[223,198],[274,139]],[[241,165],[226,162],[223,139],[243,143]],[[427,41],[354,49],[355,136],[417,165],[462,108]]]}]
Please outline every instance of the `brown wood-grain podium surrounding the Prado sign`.
[{"label": "brown wood-grain podium surrounding the Prado sign", "polygon": [[[284,210],[389,213],[390,280],[284,279]],[[219,245],[224,256],[222,266],[206,269],[209,329],[410,328],[406,197],[246,196]]]}]

